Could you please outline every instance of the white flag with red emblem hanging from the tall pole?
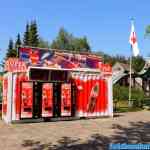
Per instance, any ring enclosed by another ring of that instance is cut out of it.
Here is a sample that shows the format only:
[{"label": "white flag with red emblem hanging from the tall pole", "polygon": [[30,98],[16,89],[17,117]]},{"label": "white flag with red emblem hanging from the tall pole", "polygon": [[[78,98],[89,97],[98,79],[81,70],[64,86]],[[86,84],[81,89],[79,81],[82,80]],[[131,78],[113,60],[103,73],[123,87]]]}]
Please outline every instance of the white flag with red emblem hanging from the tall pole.
[{"label": "white flag with red emblem hanging from the tall pole", "polygon": [[139,51],[139,48],[138,48],[137,37],[136,37],[133,22],[131,24],[131,33],[130,33],[129,43],[132,46],[133,56],[135,56],[135,57],[138,56],[140,51]]}]

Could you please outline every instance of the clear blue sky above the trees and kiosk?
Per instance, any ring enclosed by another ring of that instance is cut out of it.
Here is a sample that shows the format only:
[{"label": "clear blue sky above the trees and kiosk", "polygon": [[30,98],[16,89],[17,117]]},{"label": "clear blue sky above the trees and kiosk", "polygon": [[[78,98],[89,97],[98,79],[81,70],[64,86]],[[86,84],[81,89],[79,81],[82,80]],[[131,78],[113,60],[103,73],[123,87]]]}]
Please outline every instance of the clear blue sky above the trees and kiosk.
[{"label": "clear blue sky above the trees and kiosk", "polygon": [[146,57],[150,54],[150,39],[144,39],[149,10],[149,0],[1,0],[0,60],[9,38],[22,34],[32,19],[48,41],[64,27],[75,36],[87,36],[94,51],[129,56],[130,18],[134,17],[141,55]]}]

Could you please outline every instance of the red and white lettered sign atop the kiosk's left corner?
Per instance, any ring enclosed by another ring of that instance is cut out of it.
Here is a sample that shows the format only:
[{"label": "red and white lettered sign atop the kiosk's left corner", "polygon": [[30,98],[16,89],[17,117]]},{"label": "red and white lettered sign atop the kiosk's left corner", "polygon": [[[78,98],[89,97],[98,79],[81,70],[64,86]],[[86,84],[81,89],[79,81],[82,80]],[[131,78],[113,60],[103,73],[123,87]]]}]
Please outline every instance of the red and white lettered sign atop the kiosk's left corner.
[{"label": "red and white lettered sign atop the kiosk's left corner", "polygon": [[26,72],[27,67],[25,62],[18,58],[9,58],[5,62],[4,70],[8,72]]}]

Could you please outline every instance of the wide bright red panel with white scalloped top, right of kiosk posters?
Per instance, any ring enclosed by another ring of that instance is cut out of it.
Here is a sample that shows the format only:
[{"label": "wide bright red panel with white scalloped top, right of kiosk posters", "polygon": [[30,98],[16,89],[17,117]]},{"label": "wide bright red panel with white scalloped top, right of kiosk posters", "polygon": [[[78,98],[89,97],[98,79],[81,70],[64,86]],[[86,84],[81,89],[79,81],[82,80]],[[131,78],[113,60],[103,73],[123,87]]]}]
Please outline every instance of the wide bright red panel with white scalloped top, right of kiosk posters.
[{"label": "wide bright red panel with white scalloped top, right of kiosk posters", "polygon": [[76,111],[79,117],[100,116],[107,111],[107,82],[96,74],[76,74]]}]

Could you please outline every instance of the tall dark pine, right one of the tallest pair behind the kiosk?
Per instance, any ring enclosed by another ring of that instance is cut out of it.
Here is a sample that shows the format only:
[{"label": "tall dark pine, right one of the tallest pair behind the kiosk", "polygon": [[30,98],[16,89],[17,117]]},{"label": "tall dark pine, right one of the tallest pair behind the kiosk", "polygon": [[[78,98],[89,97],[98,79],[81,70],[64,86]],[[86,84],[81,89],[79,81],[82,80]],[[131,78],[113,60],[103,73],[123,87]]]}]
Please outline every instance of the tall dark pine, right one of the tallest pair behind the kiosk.
[{"label": "tall dark pine, right one of the tallest pair behind the kiosk", "polygon": [[36,21],[32,21],[29,29],[29,45],[37,47],[39,45],[39,35]]}]

